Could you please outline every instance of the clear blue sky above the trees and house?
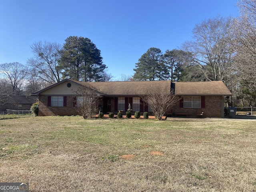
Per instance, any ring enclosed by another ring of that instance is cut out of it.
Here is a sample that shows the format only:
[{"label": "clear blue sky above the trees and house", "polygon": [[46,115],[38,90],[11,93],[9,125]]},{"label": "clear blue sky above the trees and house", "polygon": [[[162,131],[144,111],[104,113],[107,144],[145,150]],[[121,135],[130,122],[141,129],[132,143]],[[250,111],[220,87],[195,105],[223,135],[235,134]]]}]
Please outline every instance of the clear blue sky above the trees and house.
[{"label": "clear blue sky above the trees and house", "polygon": [[237,0],[0,0],[0,64],[25,64],[37,41],[89,38],[112,80],[132,76],[149,48],[179,49],[204,19],[238,16]]}]

